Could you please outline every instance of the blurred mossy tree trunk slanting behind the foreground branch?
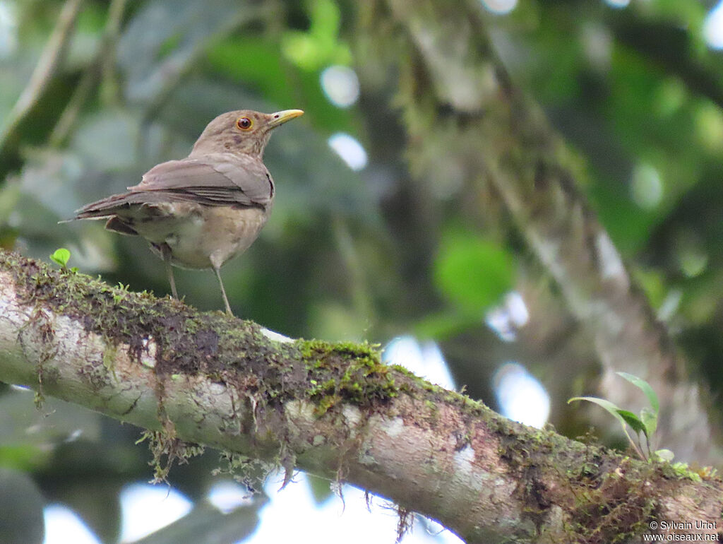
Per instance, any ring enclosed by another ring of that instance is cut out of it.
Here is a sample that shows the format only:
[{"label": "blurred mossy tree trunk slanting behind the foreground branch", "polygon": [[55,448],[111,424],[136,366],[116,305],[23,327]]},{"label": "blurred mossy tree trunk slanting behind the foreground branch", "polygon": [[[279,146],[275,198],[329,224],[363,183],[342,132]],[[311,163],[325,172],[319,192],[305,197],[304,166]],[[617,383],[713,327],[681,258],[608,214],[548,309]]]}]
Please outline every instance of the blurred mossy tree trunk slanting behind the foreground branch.
[{"label": "blurred mossy tree trunk slanting behind the foreground branch", "polygon": [[660,446],[679,459],[719,463],[723,441],[705,392],[689,381],[667,330],[578,190],[570,152],[497,59],[479,1],[377,0],[360,10],[356,57],[398,72],[395,103],[419,182],[456,192],[479,216],[490,198],[499,200],[591,336],[604,367],[601,395],[639,408],[638,391],[620,387],[615,371],[645,379],[662,399]]}]

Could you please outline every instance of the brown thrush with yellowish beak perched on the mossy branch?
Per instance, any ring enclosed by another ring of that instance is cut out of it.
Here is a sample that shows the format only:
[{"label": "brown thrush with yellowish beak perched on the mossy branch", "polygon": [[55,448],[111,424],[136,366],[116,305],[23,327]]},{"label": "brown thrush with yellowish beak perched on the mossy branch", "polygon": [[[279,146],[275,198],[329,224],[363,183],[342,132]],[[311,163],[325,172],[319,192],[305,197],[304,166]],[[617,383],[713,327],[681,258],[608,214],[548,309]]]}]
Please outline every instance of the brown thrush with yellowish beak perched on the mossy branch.
[{"label": "brown thrush with yellowish beak perched on the mossy branch", "polygon": [[87,204],[74,219],[103,218],[110,231],[145,238],[176,298],[173,266],[213,269],[231,315],[221,266],[252,245],[271,211],[275,187],[262,160],[271,130],[303,113],[221,114],[189,156],[154,166],[128,192]]}]

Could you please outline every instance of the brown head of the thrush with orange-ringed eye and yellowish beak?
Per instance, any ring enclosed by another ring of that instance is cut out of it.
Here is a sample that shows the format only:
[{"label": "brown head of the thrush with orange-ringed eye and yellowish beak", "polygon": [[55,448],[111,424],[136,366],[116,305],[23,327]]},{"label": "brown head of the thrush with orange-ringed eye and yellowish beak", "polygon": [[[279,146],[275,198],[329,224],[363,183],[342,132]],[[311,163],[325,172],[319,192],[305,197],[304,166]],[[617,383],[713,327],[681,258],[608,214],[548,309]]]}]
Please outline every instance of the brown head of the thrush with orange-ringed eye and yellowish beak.
[{"label": "brown head of the thrush with orange-ringed eye and yellowish beak", "polygon": [[234,153],[261,157],[271,130],[303,114],[300,109],[286,109],[274,114],[250,109],[228,111],[208,124],[196,140],[191,156]]}]

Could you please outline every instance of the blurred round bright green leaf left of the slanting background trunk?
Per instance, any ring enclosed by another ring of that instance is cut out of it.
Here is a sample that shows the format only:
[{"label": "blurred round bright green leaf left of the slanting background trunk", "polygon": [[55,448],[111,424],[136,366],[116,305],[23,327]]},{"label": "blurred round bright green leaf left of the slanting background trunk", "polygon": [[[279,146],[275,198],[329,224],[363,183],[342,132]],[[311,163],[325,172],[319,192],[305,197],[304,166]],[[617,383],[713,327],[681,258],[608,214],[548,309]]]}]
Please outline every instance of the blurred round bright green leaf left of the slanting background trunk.
[{"label": "blurred round bright green leaf left of the slanting background trunk", "polygon": [[461,310],[479,315],[511,288],[513,259],[491,240],[469,234],[446,236],[434,277],[440,291]]}]

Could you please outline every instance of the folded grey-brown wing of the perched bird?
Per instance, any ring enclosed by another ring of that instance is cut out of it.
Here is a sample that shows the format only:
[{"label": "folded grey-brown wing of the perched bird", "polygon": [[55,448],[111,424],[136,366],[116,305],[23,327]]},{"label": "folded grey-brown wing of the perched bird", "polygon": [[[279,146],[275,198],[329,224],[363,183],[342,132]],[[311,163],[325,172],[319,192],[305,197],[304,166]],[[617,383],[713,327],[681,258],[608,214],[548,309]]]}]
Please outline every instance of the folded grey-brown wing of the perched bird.
[{"label": "folded grey-brown wing of the perched bird", "polygon": [[268,205],[273,181],[263,163],[223,153],[154,166],[130,192],[174,192],[182,200],[215,205]]}]

